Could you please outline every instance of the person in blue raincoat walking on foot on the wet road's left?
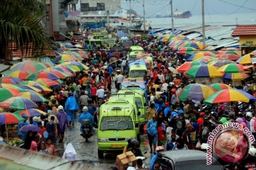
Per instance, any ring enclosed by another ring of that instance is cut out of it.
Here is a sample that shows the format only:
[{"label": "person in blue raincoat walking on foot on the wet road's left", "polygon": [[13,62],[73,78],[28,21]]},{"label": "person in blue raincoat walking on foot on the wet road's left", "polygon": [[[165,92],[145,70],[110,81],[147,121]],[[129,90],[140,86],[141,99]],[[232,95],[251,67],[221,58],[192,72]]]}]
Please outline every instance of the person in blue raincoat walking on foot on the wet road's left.
[{"label": "person in blue raincoat walking on foot on the wet road's left", "polygon": [[69,124],[71,125],[71,122],[72,122],[72,125],[74,125],[75,113],[76,111],[78,111],[78,105],[77,105],[76,99],[74,98],[73,92],[68,93],[68,98],[65,103],[65,110],[67,110],[67,117],[68,117]]}]

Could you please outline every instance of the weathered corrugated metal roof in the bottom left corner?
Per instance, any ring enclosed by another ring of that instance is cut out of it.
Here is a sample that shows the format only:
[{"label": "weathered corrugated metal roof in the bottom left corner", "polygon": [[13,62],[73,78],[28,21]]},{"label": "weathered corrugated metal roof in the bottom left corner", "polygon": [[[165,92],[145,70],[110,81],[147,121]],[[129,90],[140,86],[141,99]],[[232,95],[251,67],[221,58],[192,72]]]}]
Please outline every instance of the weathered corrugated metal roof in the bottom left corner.
[{"label": "weathered corrugated metal roof in the bottom left corner", "polygon": [[101,167],[71,162],[67,159],[31,152],[6,144],[0,144],[0,153],[1,170],[6,170],[3,167],[10,167],[9,170],[20,169],[17,167],[17,164],[20,167],[27,166],[27,168],[32,168],[33,170],[103,170]]}]

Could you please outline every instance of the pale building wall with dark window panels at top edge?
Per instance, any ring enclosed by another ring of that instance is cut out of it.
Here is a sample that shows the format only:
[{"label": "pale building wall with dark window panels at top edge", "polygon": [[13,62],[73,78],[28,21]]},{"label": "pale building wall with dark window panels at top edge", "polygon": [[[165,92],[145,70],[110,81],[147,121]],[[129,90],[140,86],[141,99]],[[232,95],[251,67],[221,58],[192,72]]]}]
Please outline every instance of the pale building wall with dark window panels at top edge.
[{"label": "pale building wall with dark window panels at top edge", "polygon": [[80,0],[80,10],[85,11],[116,11],[121,9],[121,0]]}]

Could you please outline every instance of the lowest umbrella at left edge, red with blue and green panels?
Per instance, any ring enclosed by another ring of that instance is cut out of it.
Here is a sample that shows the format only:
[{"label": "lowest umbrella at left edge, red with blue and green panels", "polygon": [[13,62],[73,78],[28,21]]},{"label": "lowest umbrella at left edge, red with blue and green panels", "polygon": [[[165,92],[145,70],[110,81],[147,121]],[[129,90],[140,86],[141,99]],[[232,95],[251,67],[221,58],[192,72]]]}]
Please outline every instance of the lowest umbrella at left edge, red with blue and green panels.
[{"label": "lowest umbrella at left edge, red with blue and green panels", "polygon": [[23,120],[23,117],[15,113],[0,113],[0,125],[18,123]]}]

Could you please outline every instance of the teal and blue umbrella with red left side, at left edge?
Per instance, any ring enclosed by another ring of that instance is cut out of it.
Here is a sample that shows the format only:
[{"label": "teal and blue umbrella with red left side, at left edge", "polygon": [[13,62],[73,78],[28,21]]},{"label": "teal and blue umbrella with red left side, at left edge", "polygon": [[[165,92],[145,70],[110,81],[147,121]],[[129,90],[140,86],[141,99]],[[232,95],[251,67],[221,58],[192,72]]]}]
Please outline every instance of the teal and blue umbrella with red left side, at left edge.
[{"label": "teal and blue umbrella with red left side, at left edge", "polygon": [[10,109],[29,109],[29,108],[38,108],[34,102],[25,98],[25,97],[11,97],[4,102],[0,102],[1,108],[10,108]]}]

